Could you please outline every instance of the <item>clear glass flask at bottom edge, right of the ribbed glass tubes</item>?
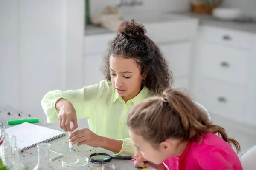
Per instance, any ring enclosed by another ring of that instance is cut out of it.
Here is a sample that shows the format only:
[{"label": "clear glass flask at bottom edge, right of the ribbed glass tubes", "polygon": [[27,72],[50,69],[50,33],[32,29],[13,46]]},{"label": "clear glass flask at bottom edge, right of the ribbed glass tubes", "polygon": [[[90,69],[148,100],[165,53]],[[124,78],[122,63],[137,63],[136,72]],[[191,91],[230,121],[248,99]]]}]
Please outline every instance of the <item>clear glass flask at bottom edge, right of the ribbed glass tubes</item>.
[{"label": "clear glass flask at bottom edge, right of the ribbed glass tubes", "polygon": [[54,170],[50,165],[49,159],[49,148],[51,144],[40,143],[37,145],[38,148],[38,164],[33,170]]}]

